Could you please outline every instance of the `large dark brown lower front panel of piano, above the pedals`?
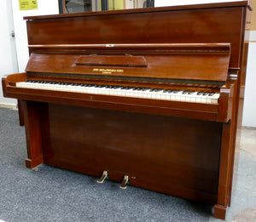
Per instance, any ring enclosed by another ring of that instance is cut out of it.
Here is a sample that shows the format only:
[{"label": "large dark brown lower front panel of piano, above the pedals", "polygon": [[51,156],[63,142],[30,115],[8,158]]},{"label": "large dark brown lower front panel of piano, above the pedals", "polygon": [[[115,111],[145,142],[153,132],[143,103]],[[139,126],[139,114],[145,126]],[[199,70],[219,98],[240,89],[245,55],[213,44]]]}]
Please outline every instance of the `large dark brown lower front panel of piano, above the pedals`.
[{"label": "large dark brown lower front panel of piano, above the pedals", "polygon": [[214,203],[221,123],[49,104],[44,163]]}]

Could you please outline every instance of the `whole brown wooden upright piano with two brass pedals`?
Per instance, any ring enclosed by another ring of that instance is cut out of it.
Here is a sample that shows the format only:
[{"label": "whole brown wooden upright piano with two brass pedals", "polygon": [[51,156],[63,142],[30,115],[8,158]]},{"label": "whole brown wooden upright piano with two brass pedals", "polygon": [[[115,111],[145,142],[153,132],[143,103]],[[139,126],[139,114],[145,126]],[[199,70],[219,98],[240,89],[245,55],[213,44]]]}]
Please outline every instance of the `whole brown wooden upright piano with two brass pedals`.
[{"label": "whole brown wooden upright piano with two brass pedals", "polygon": [[26,167],[230,206],[247,1],[25,17]]}]

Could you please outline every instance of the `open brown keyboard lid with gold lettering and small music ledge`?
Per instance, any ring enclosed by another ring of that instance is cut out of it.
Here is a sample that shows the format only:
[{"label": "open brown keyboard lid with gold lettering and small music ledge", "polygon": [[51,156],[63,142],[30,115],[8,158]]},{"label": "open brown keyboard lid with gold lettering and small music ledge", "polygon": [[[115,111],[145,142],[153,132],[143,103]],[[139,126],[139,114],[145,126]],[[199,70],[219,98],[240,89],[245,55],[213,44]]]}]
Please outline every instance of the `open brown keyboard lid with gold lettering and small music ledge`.
[{"label": "open brown keyboard lid with gold lettering and small music ledge", "polygon": [[225,82],[229,43],[33,45],[28,72]]}]

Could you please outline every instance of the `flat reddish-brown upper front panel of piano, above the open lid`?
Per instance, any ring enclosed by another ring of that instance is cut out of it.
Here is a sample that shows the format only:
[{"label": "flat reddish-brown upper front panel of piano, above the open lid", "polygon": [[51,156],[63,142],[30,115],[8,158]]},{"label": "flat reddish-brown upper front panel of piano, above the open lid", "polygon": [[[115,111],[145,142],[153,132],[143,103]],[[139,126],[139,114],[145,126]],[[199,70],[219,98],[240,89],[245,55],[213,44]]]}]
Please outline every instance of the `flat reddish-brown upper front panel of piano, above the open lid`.
[{"label": "flat reddish-brown upper front panel of piano, above the open lid", "polygon": [[231,43],[241,52],[242,7],[84,15],[27,20],[29,45],[109,43]]}]

